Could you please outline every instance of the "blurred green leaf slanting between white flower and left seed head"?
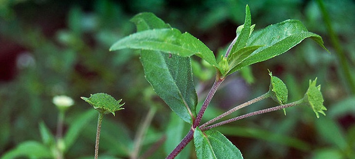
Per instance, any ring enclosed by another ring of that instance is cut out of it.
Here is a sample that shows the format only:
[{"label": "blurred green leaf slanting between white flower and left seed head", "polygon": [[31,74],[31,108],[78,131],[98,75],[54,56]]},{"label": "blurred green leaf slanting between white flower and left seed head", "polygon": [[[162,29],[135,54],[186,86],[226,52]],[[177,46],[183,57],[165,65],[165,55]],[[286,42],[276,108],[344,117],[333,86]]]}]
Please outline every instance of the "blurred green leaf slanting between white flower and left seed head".
[{"label": "blurred green leaf slanting between white flower and left seed head", "polygon": [[85,113],[80,114],[75,118],[70,124],[67,133],[64,136],[65,150],[69,150],[73,143],[75,143],[80,132],[83,128],[97,116],[97,111],[89,110]]}]

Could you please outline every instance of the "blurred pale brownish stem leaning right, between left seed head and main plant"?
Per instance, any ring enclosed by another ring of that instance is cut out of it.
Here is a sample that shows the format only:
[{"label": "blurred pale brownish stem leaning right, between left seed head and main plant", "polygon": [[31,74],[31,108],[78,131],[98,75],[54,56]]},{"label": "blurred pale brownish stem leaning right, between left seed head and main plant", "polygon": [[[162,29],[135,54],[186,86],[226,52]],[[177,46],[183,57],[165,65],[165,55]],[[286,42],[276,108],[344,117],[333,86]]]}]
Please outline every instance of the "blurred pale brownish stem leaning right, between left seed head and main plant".
[{"label": "blurred pale brownish stem leaning right, between left seed head and main plant", "polygon": [[155,112],[157,111],[156,107],[150,107],[150,110],[148,111],[147,116],[144,118],[142,121],[142,124],[136,134],[135,141],[134,141],[134,149],[131,154],[131,159],[138,159],[139,151],[141,148],[141,143],[142,140],[144,139],[144,134],[147,132],[147,128],[152,122],[152,119],[155,115]]}]

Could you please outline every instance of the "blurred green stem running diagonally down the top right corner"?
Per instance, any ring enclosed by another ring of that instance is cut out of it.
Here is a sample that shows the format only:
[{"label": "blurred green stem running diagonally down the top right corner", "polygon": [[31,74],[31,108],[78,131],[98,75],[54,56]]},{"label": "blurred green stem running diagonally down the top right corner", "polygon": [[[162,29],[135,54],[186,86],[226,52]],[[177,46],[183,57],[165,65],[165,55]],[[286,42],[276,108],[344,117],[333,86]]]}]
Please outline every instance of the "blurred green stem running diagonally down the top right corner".
[{"label": "blurred green stem running diagonally down the top right corner", "polygon": [[317,0],[317,2],[320,7],[320,11],[323,14],[323,19],[324,19],[325,26],[326,26],[329,36],[330,36],[330,41],[337,52],[337,57],[339,59],[342,73],[344,74],[345,80],[348,84],[348,88],[350,89],[352,94],[355,94],[355,78],[351,73],[351,70],[349,67],[349,62],[347,60],[347,57],[345,56],[343,48],[340,45],[340,42],[339,42],[340,40],[337,37],[336,33],[334,32],[334,29],[332,26],[332,21],[331,21],[329,15],[328,15],[328,12],[324,6],[323,0]]}]

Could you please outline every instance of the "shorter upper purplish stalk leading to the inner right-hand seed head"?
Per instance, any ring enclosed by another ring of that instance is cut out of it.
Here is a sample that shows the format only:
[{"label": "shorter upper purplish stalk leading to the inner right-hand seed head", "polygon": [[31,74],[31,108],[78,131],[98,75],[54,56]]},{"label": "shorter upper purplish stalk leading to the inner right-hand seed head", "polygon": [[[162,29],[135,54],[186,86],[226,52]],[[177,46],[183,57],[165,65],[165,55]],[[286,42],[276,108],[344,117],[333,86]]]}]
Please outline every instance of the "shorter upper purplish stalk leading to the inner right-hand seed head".
[{"label": "shorter upper purplish stalk leading to the inner right-hand seed head", "polygon": [[253,104],[253,103],[256,103],[256,102],[258,102],[258,101],[260,101],[260,100],[266,99],[266,98],[268,98],[268,97],[270,97],[270,96],[271,96],[271,93],[270,93],[270,92],[267,92],[267,93],[264,94],[264,95],[260,95],[260,96],[254,98],[254,99],[251,99],[251,100],[249,100],[248,102],[245,102],[245,103],[243,103],[243,104],[241,104],[241,105],[238,105],[238,106],[232,108],[231,110],[226,111],[225,113],[223,113],[223,114],[221,114],[221,115],[219,115],[219,116],[213,118],[212,120],[206,122],[205,124],[203,124],[203,125],[200,126],[199,128],[206,127],[206,126],[212,124],[213,122],[215,122],[215,121],[217,121],[217,120],[219,120],[219,119],[221,119],[221,118],[223,118],[223,117],[225,117],[225,116],[231,114],[231,113],[234,112],[234,111],[237,111],[237,110],[239,110],[239,109],[241,109],[241,108],[244,108],[244,107],[246,107],[246,106],[248,106],[248,105],[251,105],[251,104]]}]

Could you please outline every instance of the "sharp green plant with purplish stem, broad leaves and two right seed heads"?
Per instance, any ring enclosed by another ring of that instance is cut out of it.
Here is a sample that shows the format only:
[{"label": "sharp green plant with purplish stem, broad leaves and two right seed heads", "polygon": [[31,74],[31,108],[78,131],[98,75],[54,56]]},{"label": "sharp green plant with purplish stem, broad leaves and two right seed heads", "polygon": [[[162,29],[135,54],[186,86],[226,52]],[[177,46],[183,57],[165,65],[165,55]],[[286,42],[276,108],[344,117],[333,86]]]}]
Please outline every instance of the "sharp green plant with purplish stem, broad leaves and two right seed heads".
[{"label": "sharp green plant with purplish stem, broad leaves and two right seed heads", "polygon": [[[271,76],[270,89],[266,94],[223,113],[200,126],[213,95],[219,85],[232,73],[248,65],[266,61],[293,48],[305,38],[310,37],[322,48],[321,37],[308,32],[298,20],[286,20],[270,25],[265,29],[252,33],[251,16],[248,5],[244,25],[237,28],[236,37],[220,61],[216,61],[213,52],[193,35],[181,33],[151,13],[142,13],[131,19],[137,26],[137,33],[117,41],[111,51],[134,48],[141,49],[141,63],[145,77],[155,92],[183,121],[191,125],[185,138],[169,154],[167,159],[175,158],[181,150],[194,139],[198,159],[205,158],[243,158],[240,151],[220,132],[211,130],[245,117],[277,111],[296,105],[308,105],[319,117],[324,114],[323,97],[320,85],[316,86],[317,78],[310,80],[309,88],[304,97],[286,104],[288,91],[284,82]],[[196,55],[212,65],[216,70],[214,84],[204,100],[200,111],[196,113],[197,95],[193,82],[191,56]],[[262,99],[271,97],[280,105],[268,109],[250,112],[235,118],[212,124],[218,119],[246,107]]]}]

